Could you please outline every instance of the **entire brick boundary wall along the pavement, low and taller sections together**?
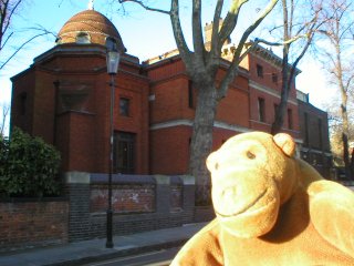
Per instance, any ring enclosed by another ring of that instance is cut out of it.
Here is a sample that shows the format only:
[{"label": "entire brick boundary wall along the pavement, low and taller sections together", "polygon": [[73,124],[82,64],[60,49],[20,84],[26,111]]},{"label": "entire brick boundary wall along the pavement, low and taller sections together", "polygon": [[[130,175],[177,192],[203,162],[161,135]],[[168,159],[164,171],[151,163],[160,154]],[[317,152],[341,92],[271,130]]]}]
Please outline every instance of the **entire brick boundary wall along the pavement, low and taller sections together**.
[{"label": "entire brick boundary wall along the pavement, low and taller sections together", "polygon": [[[106,237],[107,175],[70,172],[65,197],[0,201],[0,253]],[[113,234],[181,226],[212,218],[195,207],[195,178],[113,175]]]}]

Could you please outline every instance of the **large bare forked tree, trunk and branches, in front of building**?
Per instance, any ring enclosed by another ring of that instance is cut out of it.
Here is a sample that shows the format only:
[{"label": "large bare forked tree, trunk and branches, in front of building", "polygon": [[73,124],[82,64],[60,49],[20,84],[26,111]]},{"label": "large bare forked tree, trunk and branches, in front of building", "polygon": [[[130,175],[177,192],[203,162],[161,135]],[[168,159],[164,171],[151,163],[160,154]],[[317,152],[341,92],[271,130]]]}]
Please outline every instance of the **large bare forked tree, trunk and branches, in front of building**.
[{"label": "large bare forked tree, trunk and branches, in front of building", "polygon": [[[240,60],[242,59],[242,49],[250,34],[258,28],[263,19],[274,8],[278,0],[269,0],[263,10],[259,9],[259,17],[250,22],[242,33],[233,60],[220,83],[216,83],[216,74],[221,63],[222,44],[230,38],[236,29],[238,18],[243,4],[249,0],[231,0],[228,13],[223,23],[220,24],[221,12],[225,6],[223,0],[215,1],[215,11],[212,19],[212,35],[210,49],[206,49],[202,38],[201,23],[201,2],[200,0],[189,1],[191,4],[191,31],[192,49],[190,49],[185,39],[181,27],[181,16],[179,0],[170,0],[170,9],[162,10],[149,7],[147,1],[139,0],[118,0],[119,3],[135,2],[143,8],[165,13],[169,16],[177,48],[181,60],[186,65],[186,71],[191,79],[198,94],[196,114],[194,121],[192,136],[190,143],[189,173],[196,176],[197,204],[207,202],[210,195],[209,172],[205,165],[208,154],[211,152],[212,127],[216,115],[216,109],[219,101],[226,96],[230,82],[238,73]],[[244,54],[243,54],[244,57]]]}]

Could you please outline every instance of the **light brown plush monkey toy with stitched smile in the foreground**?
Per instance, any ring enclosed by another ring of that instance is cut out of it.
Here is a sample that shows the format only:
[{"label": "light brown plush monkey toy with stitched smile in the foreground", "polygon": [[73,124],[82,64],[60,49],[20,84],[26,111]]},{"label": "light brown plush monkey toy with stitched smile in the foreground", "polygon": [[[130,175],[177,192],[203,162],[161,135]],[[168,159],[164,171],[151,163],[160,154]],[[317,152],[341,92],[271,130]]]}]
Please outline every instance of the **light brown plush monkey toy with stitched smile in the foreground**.
[{"label": "light brown plush monkey toy with stitched smile in the foreground", "polygon": [[290,135],[261,132],[211,153],[217,217],[171,265],[354,265],[354,193],[294,153]]}]

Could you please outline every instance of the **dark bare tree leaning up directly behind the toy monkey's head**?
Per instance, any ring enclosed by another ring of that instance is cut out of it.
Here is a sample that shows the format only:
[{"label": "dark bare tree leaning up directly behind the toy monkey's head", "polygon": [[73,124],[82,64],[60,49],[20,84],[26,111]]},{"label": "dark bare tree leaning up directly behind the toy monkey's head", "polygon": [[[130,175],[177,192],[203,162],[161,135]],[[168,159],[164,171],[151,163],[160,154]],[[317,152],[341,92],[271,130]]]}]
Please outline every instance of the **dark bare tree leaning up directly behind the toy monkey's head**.
[{"label": "dark bare tree leaning up directly behind the toy monkey's head", "polygon": [[280,103],[275,111],[274,122],[271,133],[277,134],[281,131],[287,114],[287,106],[291,86],[294,84],[296,68],[301,59],[309,50],[314,34],[323,24],[320,13],[322,10],[322,1],[313,0],[282,0],[282,18],[281,25],[277,25],[270,30],[270,33],[278,29],[282,29],[281,42],[264,42],[270,45],[282,44],[282,88]]}]

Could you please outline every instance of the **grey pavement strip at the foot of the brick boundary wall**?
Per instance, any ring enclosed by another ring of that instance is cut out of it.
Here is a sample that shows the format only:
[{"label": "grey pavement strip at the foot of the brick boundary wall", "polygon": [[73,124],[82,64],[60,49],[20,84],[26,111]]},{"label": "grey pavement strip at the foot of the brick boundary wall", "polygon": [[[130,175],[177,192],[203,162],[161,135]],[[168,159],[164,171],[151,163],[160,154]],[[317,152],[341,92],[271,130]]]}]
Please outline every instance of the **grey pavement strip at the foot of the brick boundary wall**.
[{"label": "grey pavement strip at the foot of the brick boundary wall", "polygon": [[106,248],[105,239],[69,243],[66,245],[34,248],[10,255],[0,254],[1,266],[70,266],[110,259],[160,248],[183,245],[207,223],[188,224],[180,227],[115,236],[114,247]]}]

